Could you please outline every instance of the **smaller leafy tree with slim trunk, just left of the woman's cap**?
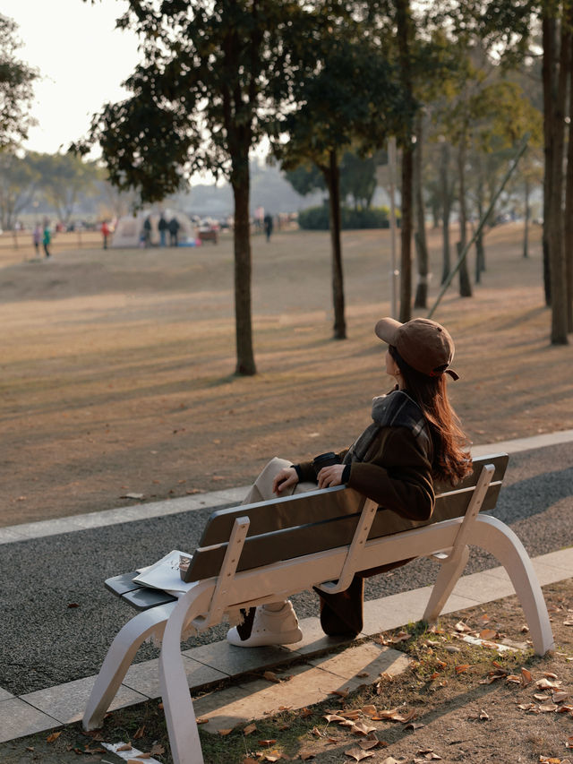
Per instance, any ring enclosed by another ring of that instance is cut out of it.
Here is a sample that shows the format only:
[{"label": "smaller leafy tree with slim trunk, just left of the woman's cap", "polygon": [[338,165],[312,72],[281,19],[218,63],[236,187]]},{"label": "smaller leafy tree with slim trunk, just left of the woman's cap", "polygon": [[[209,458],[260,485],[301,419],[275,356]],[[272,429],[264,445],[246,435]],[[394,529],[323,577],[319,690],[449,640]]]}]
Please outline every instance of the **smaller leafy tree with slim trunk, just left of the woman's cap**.
[{"label": "smaller leafy tree with slim trunk, just left of the woman's cap", "polygon": [[351,146],[367,155],[390,134],[403,133],[415,108],[398,82],[396,67],[381,47],[360,32],[350,21],[340,29],[329,25],[320,46],[314,48],[320,53],[315,67],[295,82],[298,107],[281,125],[288,140],[274,146],[283,167],[312,164],[320,169],[329,189],[335,339],[346,338],[340,160]]}]

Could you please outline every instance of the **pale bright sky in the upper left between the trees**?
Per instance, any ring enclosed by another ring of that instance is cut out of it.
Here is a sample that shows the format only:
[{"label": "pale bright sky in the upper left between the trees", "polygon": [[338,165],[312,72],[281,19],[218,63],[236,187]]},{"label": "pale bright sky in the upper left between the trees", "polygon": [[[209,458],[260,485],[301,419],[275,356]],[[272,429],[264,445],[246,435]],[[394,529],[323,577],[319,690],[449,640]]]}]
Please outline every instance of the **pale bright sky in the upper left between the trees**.
[{"label": "pale bright sky in the upper left between the trees", "polygon": [[0,13],[18,24],[21,61],[38,69],[30,128],[23,147],[56,153],[88,131],[91,116],[121,100],[121,82],[140,60],[132,32],[115,30],[118,0],[2,0]]}]

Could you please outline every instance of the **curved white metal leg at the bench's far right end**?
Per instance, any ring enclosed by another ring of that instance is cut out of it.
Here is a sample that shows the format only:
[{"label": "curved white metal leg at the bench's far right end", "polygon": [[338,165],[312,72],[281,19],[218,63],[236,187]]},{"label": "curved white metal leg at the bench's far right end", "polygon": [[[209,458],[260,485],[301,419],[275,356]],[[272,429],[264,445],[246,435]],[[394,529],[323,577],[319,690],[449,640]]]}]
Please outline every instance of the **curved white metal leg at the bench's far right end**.
[{"label": "curved white metal leg at the bench's far right end", "polygon": [[555,648],[547,605],[533,563],[516,534],[496,518],[480,515],[474,526],[472,544],[493,554],[508,571],[517,598],[526,615],[535,653],[543,656]]}]

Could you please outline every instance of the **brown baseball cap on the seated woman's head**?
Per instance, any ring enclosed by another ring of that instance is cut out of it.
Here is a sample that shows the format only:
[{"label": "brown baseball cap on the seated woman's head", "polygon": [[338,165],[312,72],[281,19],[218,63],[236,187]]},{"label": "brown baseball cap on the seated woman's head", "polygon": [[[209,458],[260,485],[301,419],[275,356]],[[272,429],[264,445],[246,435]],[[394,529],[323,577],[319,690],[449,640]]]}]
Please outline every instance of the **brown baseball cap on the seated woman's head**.
[{"label": "brown baseball cap on the seated woman's head", "polygon": [[400,323],[393,318],[381,318],[374,331],[393,345],[406,364],[429,377],[442,373],[457,380],[458,374],[449,368],[454,359],[454,340],[449,331],[428,318],[415,318]]}]

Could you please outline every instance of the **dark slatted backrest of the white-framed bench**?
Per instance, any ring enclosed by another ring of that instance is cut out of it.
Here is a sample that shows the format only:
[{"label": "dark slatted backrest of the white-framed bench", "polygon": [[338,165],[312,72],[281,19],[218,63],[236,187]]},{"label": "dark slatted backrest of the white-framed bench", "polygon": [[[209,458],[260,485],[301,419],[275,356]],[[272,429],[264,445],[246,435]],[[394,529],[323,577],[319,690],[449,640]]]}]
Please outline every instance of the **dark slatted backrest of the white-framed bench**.
[{"label": "dark slatted backrest of the white-framed bench", "polygon": [[[500,493],[508,459],[507,454],[480,457],[474,460],[472,473],[455,488],[440,489],[436,486],[436,505],[429,520],[420,522],[402,518],[396,512],[378,511],[368,538],[388,536],[440,520],[463,517],[485,464],[492,464],[495,471],[482,511],[492,510]],[[250,521],[236,568],[237,571],[247,571],[273,562],[349,545],[364,501],[361,494],[339,485],[322,491],[213,512],[193,554],[185,580],[202,580],[218,575],[236,519],[247,517]]]}]

